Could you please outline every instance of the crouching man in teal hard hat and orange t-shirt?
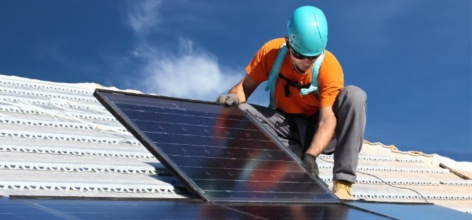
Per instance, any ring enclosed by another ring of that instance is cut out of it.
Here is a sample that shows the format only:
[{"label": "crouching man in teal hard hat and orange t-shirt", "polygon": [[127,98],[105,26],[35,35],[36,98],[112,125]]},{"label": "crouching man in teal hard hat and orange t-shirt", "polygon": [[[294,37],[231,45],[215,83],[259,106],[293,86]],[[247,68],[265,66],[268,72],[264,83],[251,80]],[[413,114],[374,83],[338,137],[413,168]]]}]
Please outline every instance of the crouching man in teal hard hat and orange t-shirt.
[{"label": "crouching man in teal hard hat and orange t-shirt", "polygon": [[[297,8],[287,29],[288,36],[261,47],[246,67],[246,76],[217,102],[239,105],[255,115],[316,176],[316,157],[333,154],[333,192],[352,200],[366,124],[366,94],[355,86],[344,87],[338,60],[325,50],[327,20],[320,9]],[[270,107],[246,104],[263,81],[268,81]]]}]

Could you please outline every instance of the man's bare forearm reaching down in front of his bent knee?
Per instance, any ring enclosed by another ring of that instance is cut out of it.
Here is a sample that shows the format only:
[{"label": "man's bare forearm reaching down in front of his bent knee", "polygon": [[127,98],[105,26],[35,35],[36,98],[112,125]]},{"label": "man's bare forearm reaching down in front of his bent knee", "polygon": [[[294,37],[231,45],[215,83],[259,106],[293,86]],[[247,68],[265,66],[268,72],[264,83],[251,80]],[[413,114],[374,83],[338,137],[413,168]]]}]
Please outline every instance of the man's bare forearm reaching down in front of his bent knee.
[{"label": "man's bare forearm reaching down in front of his bent knee", "polygon": [[331,106],[320,109],[318,130],[311,141],[307,153],[318,156],[328,146],[336,128],[336,117]]}]

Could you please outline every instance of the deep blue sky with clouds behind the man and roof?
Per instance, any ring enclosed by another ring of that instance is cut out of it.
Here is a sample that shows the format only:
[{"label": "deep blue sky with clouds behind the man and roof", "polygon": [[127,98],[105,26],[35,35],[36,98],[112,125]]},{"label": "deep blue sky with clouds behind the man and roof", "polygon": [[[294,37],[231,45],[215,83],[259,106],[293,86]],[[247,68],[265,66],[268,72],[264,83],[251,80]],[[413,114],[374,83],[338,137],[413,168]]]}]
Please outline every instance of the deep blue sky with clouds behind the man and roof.
[{"label": "deep blue sky with clouds behind the man and roof", "polygon": [[470,0],[0,1],[0,74],[215,100],[307,3],[368,94],[368,141],[472,161]]}]

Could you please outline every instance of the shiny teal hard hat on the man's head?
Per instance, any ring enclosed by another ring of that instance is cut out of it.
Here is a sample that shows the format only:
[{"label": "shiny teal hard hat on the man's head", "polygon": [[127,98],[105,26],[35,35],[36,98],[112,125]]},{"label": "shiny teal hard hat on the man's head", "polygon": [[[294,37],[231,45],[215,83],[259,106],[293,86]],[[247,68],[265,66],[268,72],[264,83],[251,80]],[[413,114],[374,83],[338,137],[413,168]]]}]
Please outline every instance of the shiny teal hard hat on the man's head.
[{"label": "shiny teal hard hat on the man's head", "polygon": [[289,44],[296,52],[312,57],[325,50],[328,42],[328,23],[319,8],[297,8],[288,20],[287,29]]}]

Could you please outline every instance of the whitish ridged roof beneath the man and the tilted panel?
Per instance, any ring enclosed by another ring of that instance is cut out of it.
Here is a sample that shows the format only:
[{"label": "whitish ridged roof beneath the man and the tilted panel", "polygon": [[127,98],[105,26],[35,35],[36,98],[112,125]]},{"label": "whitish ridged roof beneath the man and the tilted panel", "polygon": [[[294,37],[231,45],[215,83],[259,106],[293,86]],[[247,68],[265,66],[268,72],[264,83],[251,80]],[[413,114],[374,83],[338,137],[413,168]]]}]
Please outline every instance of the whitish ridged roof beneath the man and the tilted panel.
[{"label": "whitish ridged roof beneath the man and the tilted panel", "polygon": [[[93,100],[94,87],[0,75],[0,195],[193,198]],[[318,160],[329,187],[332,161],[327,155]],[[471,213],[472,180],[441,168],[445,161],[451,164],[436,154],[365,141],[354,197],[427,200]]]}]

